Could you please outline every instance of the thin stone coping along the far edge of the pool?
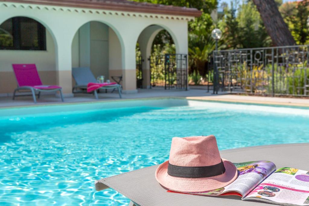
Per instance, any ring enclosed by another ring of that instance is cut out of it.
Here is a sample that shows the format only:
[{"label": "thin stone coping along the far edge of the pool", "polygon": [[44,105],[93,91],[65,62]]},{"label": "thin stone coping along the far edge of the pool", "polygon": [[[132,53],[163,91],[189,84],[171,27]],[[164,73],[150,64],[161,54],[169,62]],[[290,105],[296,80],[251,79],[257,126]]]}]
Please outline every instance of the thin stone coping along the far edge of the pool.
[{"label": "thin stone coping along the far edge of the pool", "polygon": [[22,105],[22,106],[5,106],[0,107],[2,109],[17,109],[17,108],[31,108],[31,107],[47,107],[47,106],[60,106],[60,105],[76,105],[76,104],[92,104],[92,103],[110,103],[110,102],[122,102],[122,101],[136,101],[136,100],[160,100],[160,99],[186,99],[193,101],[205,101],[205,102],[219,102],[219,103],[242,103],[242,104],[253,104],[263,106],[284,106],[284,107],[303,107],[304,109],[309,108],[308,103],[292,103],[292,102],[274,102],[274,101],[256,101],[256,100],[244,100],[244,99],[221,99],[208,96],[197,96],[197,97],[146,97],[146,98],[130,98],[130,99],[112,99],[112,100],[91,100],[91,101],[79,101],[70,103],[48,103],[48,104],[33,104],[33,105]]}]

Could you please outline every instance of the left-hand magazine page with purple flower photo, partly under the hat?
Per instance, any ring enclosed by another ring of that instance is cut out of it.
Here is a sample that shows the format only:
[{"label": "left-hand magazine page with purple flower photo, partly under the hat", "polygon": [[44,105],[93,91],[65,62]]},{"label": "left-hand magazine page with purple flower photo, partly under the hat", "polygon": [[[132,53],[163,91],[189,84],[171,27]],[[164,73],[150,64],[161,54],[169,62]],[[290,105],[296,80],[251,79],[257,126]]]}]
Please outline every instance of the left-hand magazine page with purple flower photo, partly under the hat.
[{"label": "left-hand magazine page with purple flower photo, partly under the hat", "polygon": [[[276,166],[270,161],[251,161],[251,162],[241,162],[233,163],[238,170],[237,179],[230,185],[205,192],[190,192],[186,194],[193,195],[237,195],[235,192],[239,193],[239,196],[246,196],[250,191],[252,191],[258,184],[260,184],[269,174],[276,170]],[[168,191],[175,192],[175,191]],[[234,192],[234,193],[233,193]]]}]

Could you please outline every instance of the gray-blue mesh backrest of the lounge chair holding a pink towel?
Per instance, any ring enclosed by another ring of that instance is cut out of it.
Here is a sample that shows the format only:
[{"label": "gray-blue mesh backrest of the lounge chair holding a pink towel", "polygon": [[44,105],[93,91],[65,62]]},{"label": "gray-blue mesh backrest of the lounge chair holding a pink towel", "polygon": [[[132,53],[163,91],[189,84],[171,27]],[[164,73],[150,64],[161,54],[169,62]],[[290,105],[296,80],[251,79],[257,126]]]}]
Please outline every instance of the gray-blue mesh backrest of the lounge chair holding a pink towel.
[{"label": "gray-blue mesh backrest of the lounge chair holding a pink towel", "polygon": [[89,67],[75,67],[72,68],[72,75],[75,79],[76,85],[86,86],[89,82],[96,82]]}]

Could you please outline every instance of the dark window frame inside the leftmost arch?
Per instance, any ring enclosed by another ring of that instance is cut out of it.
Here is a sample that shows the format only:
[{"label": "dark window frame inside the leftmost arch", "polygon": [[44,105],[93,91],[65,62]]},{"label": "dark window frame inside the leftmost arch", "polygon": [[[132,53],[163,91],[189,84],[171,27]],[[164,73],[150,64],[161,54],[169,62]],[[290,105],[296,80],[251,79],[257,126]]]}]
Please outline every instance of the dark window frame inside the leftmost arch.
[{"label": "dark window frame inside the leftmost arch", "polygon": [[38,50],[38,51],[46,51],[46,29],[38,21],[36,21],[36,22],[37,22],[38,44],[39,44],[39,46],[37,46],[37,47],[25,47],[25,46],[21,45],[21,20],[23,18],[26,18],[26,17],[13,17],[12,18],[13,46],[0,46],[0,50],[26,50],[26,51],[27,50]]}]

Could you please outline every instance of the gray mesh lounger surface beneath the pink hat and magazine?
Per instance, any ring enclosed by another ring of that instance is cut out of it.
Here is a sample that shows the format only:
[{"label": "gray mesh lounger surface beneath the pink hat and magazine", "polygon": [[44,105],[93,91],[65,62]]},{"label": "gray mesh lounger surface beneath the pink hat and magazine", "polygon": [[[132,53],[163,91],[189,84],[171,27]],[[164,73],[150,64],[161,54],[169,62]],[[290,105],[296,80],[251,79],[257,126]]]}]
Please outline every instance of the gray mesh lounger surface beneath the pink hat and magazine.
[{"label": "gray mesh lounger surface beneath the pink hat and magazine", "polygon": [[[291,166],[297,169],[309,169],[309,143],[266,145],[239,149],[222,150],[221,157],[231,162],[269,160],[277,168]],[[109,187],[125,195],[136,205],[220,205],[220,206],[266,206],[273,205],[259,201],[242,201],[238,196],[197,196],[169,193],[155,179],[155,170],[151,166],[95,182],[96,190]],[[103,173],[104,171],[102,171]]]}]

